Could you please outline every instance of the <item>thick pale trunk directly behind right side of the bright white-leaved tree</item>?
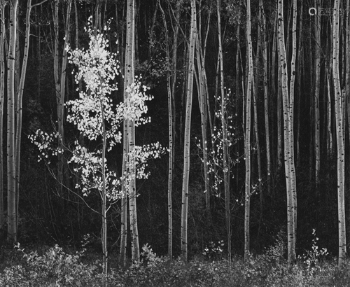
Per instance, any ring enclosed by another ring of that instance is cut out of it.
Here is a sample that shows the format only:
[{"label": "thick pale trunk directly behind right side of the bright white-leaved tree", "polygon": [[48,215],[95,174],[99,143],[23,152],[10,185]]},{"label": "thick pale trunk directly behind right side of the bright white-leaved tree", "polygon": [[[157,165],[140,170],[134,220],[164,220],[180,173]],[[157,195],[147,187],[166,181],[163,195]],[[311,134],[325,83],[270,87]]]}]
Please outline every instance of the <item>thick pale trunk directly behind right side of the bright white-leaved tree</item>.
[{"label": "thick pale trunk directly behind right side of the bright white-leaved tree", "polygon": [[[135,55],[135,1],[127,0],[127,41],[125,49],[125,99],[130,97],[126,92],[127,87],[134,83],[134,56]],[[129,149],[128,157],[128,178],[127,190],[129,195],[130,209],[130,231],[132,242],[132,262],[139,262],[139,230],[137,227],[137,200],[136,200],[136,169],[135,169],[135,125],[133,120],[127,120],[127,146]]]}]

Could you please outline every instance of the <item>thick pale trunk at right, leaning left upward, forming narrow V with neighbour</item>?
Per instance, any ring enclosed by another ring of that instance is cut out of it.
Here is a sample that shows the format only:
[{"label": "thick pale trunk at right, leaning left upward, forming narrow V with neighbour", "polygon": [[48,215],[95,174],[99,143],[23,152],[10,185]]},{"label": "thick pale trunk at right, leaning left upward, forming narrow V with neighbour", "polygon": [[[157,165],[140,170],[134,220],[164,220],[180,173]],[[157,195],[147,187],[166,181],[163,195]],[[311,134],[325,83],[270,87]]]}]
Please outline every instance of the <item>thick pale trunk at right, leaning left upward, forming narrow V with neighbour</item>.
[{"label": "thick pale trunk at right, leaning left upward, forming narrow V with neighbour", "polygon": [[[296,0],[294,1],[294,7]],[[296,7],[295,7],[296,8]],[[286,171],[286,190],[287,190],[287,230],[288,230],[288,263],[293,264],[296,260],[295,255],[295,167],[293,158],[293,82],[291,82],[290,94],[288,92],[288,67],[286,60],[286,48],[284,44],[284,25],[283,25],[283,0],[278,3],[279,14],[279,57],[281,65],[281,85],[283,94],[283,130],[284,130],[284,168]],[[296,13],[295,13],[296,17]],[[294,21],[293,21],[294,22]],[[295,43],[293,43],[295,45]],[[296,50],[295,46],[293,50]],[[295,51],[293,51],[295,54]],[[295,61],[295,55],[292,56]],[[292,73],[295,73],[295,65],[292,60]]]}]

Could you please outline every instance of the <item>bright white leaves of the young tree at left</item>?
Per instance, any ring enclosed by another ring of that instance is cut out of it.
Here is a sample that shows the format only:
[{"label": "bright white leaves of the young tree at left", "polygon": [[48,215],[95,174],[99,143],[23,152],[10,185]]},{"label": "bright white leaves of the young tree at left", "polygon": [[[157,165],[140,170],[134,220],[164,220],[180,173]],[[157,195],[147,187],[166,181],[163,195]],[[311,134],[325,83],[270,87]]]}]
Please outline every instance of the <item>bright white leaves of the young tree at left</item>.
[{"label": "bright white leaves of the young tree at left", "polygon": [[[109,28],[104,28],[107,29]],[[136,77],[137,80],[126,89],[125,102],[113,104],[111,94],[118,88],[117,55],[109,51],[109,41],[104,34],[94,32],[91,18],[85,31],[90,37],[87,50],[71,50],[69,46],[66,48],[69,62],[78,68],[75,73],[76,83],[81,80],[84,87],[84,90],[79,91],[78,99],[66,103],[67,121],[73,123],[90,141],[102,141],[105,136],[107,151],[111,151],[113,146],[121,142],[120,125],[123,120],[132,120],[136,126],[151,120],[144,118],[148,111],[145,102],[153,97],[146,94],[148,87],[141,85],[141,80]],[[61,152],[57,148],[52,148],[55,137],[56,134],[37,131],[29,138],[38,146],[41,158],[48,158],[49,153],[57,155]],[[127,185],[135,176],[137,179],[147,179],[149,174],[146,172],[147,160],[159,158],[165,153],[165,148],[158,143],[135,146],[128,155],[134,160],[128,161],[127,173],[118,177],[116,172],[109,169],[106,158],[102,158],[101,146],[89,151],[75,141],[69,165],[73,166],[73,171],[79,177],[76,188],[81,190],[83,195],[87,196],[92,190],[97,190],[101,196],[106,195],[111,201],[125,196],[122,194],[121,186]]]}]

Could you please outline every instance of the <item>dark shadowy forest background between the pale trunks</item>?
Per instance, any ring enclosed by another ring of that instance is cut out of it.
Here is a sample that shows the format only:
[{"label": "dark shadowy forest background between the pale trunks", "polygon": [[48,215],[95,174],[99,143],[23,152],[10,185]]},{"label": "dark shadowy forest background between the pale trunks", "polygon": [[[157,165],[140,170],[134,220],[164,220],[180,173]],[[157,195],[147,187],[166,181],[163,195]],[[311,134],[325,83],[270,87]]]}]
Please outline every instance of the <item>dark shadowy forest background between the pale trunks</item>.
[{"label": "dark shadowy forest background between the pale trunks", "polygon": [[[39,1],[33,1],[39,3]],[[84,27],[90,15],[95,15],[97,5],[100,5],[102,22],[111,20],[111,30],[108,37],[111,38],[111,50],[118,52],[120,63],[123,67],[123,55],[125,52],[125,18],[126,3],[119,0],[104,1],[73,1],[69,33],[72,48],[75,48],[76,25],[78,25],[78,43],[80,47],[87,47],[87,34]],[[264,118],[264,83],[263,83],[263,59],[262,53],[257,47],[260,35],[259,1],[251,1],[251,37],[253,42],[254,77],[256,89],[256,106],[258,118],[258,137],[260,140],[262,178],[258,176],[258,146],[255,136],[251,139],[251,163],[252,178],[251,190],[251,253],[262,253],[264,248],[274,242],[274,238],[280,230],[286,231],[286,179],[283,165],[278,165],[279,146],[278,123],[281,123],[278,111],[277,99],[281,97],[278,87],[278,58],[274,41],[276,41],[276,1],[263,1],[266,17],[267,40],[267,79],[268,79],[268,116],[269,131],[265,132]],[[290,62],[291,50],[291,13],[293,1],[284,3],[284,25],[287,43],[287,62]],[[59,244],[78,248],[83,237],[90,234],[89,248],[100,251],[101,221],[87,205],[75,193],[73,186],[76,177],[69,169],[64,170],[66,186],[61,188],[55,176],[57,174],[57,158],[50,159],[50,165],[38,162],[38,150],[29,141],[28,136],[40,128],[46,132],[57,129],[57,107],[55,95],[55,81],[53,76],[54,57],[52,26],[52,3],[46,1],[36,6],[31,11],[31,38],[23,95],[23,122],[22,145],[20,158],[20,197],[18,209],[18,241],[21,244]],[[179,4],[179,36],[177,52],[177,80],[174,94],[175,106],[175,137],[174,137],[174,178],[173,178],[173,222],[174,222],[174,255],[180,255],[180,223],[181,223],[181,186],[183,174],[183,129],[186,109],[186,78],[187,78],[187,42],[190,31],[190,3],[189,1],[156,0],[137,1],[136,18],[136,71],[142,76],[142,83],[148,85],[149,94],[154,99],[148,103],[148,116],[151,123],[137,127],[137,144],[150,144],[159,141],[163,146],[169,146],[168,139],[168,109],[167,109],[167,81],[166,81],[166,45],[165,29],[172,38],[174,34],[176,3]],[[345,88],[346,72],[345,58],[349,57],[346,48],[346,1],[341,1],[341,29],[340,29],[340,55],[339,64],[341,71],[341,83]],[[160,13],[159,4],[165,12],[165,27]],[[18,25],[18,53],[22,60],[25,41],[25,15],[26,1],[19,4]],[[59,1],[59,55],[62,57],[64,23],[66,22],[66,1]],[[74,7],[76,5],[76,8]],[[295,83],[295,167],[297,179],[297,254],[303,253],[312,244],[312,230],[315,229],[319,238],[319,245],[328,248],[332,255],[337,255],[337,158],[335,141],[335,95],[330,82],[330,90],[327,86],[327,73],[330,69],[332,57],[331,22],[332,15],[318,13],[321,20],[321,42],[316,41],[315,18],[310,15],[309,8],[315,7],[314,1],[297,1],[297,62]],[[332,8],[333,1],[321,1],[318,3],[324,9]],[[8,8],[8,6],[7,6]],[[8,39],[8,9],[5,9],[3,21],[5,21],[5,39]],[[211,104],[211,116],[214,123],[219,125],[219,120],[214,113],[220,109],[216,97],[218,88],[218,19],[216,17],[216,1],[197,1],[197,21],[200,38],[204,43],[207,34],[207,52],[205,57],[205,69],[207,71],[208,95]],[[313,10],[312,10],[313,11]],[[323,10],[325,11],[325,10]],[[77,13],[77,15],[76,15]],[[76,23],[76,16],[78,23]],[[244,253],[244,97],[246,94],[244,83],[246,82],[247,49],[246,49],[246,6],[245,1],[223,0],[220,8],[221,33],[223,43],[224,85],[225,91],[231,90],[228,101],[228,113],[232,119],[232,146],[230,147],[230,209],[232,230],[232,253],[243,255]],[[209,24],[208,24],[209,21]],[[237,29],[238,27],[238,29]],[[207,31],[208,29],[208,31]],[[118,39],[118,44],[115,40]],[[7,43],[5,41],[5,43]],[[288,44],[289,43],[289,44]],[[320,114],[320,152],[321,169],[319,179],[315,179],[315,105],[314,92],[317,85],[315,59],[316,48],[321,48],[321,69],[319,83],[319,109]],[[171,45],[170,50],[174,47]],[[239,50],[237,50],[239,49]],[[6,51],[6,49],[5,49]],[[274,60],[273,60],[274,59]],[[62,58],[60,58],[60,61]],[[238,61],[238,62],[237,62]],[[256,62],[255,62],[256,61]],[[6,60],[5,60],[6,62]],[[21,62],[21,61],[20,61]],[[20,63],[19,62],[19,63]],[[238,66],[238,69],[237,69]],[[19,71],[19,69],[18,69]],[[76,83],[74,83],[73,66],[66,68],[66,98],[76,99]],[[238,73],[237,73],[238,72]],[[120,87],[123,86],[123,78],[119,77]],[[332,106],[328,114],[328,92],[330,92],[330,104]],[[346,105],[349,99],[346,90]],[[4,94],[6,99],[6,92]],[[117,100],[123,99],[123,88],[113,94]],[[3,115],[6,115],[6,104]],[[200,106],[197,97],[197,86],[194,85],[193,110],[190,138],[190,183],[189,183],[189,209],[188,209],[188,251],[190,258],[201,254],[211,241],[225,241],[227,248],[227,235],[225,225],[225,197],[223,184],[218,190],[211,189],[210,216],[205,211],[204,194],[204,170],[201,162],[202,150],[197,146],[201,139]],[[346,115],[348,110],[346,109]],[[253,113],[252,113],[253,117]],[[349,122],[346,118],[345,143],[346,162],[349,162]],[[331,134],[328,133],[330,123]],[[6,155],[6,118],[3,123],[3,154]],[[252,133],[253,134],[253,133]],[[69,146],[78,138],[78,132],[69,123],[64,122],[64,136],[66,145]],[[213,136],[207,131],[208,141]],[[272,174],[267,174],[267,157],[265,139],[269,137],[271,147]],[[283,137],[283,133],[282,133]],[[329,141],[332,139],[333,146]],[[282,141],[283,142],[283,141]],[[209,146],[209,148],[212,148]],[[68,156],[68,155],[67,155]],[[123,147],[118,146],[113,153],[108,155],[109,162],[113,162],[113,169],[121,170]],[[283,161],[282,161],[283,162]],[[6,163],[3,165],[3,174],[6,174]],[[168,156],[162,155],[161,159],[150,160],[148,170],[151,175],[147,180],[137,181],[137,214],[139,221],[140,246],[150,244],[153,250],[160,254],[167,254],[168,221],[167,221],[167,169]],[[349,198],[349,165],[346,165],[346,214],[350,212]],[[267,188],[267,181],[271,184]],[[4,176],[3,199],[4,214],[6,217],[7,181]],[[262,182],[261,189],[259,182]],[[211,186],[214,186],[214,178],[211,176]],[[73,192],[72,192],[73,190]],[[207,191],[208,192],[208,191]],[[261,196],[260,196],[261,195]],[[90,207],[99,209],[99,197],[91,193],[84,200]],[[349,216],[346,216],[349,225]],[[108,214],[108,243],[110,256],[118,255],[120,241],[120,204],[113,204]],[[3,226],[3,239],[6,238],[6,222]],[[346,232],[349,238],[349,231]],[[129,251],[131,252],[131,251]]]}]

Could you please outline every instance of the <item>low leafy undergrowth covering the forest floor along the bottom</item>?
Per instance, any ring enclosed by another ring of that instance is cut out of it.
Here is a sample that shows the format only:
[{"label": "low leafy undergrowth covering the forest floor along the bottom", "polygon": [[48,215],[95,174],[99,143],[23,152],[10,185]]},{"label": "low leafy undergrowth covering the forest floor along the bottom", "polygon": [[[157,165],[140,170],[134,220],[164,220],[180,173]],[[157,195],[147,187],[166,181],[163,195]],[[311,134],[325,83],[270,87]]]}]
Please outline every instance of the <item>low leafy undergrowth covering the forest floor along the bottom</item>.
[{"label": "low leafy undergrowth covering the forest floor along the bottom", "polygon": [[[283,241],[262,255],[244,261],[210,261],[204,258],[188,263],[157,257],[144,246],[142,260],[127,269],[113,268],[102,275],[101,260],[92,260],[83,250],[74,255],[59,246],[26,253],[18,246],[1,250],[0,286],[349,286],[350,261],[342,268],[336,260],[325,260],[316,241],[312,250],[298,258],[293,267],[285,260]],[[208,255],[208,254],[206,254]],[[113,265],[113,263],[111,263]]]}]

